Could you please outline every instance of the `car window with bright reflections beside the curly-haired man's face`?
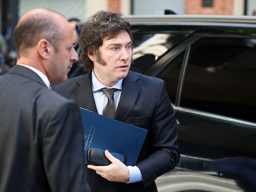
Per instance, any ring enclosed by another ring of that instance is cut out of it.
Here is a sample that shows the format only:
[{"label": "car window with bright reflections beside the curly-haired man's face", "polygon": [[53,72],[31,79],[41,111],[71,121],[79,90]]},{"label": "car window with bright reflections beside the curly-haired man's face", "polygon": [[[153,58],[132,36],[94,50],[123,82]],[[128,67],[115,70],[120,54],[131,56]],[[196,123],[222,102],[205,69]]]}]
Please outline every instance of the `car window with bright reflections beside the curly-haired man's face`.
[{"label": "car window with bright reflections beside the curly-haired man's face", "polygon": [[177,33],[143,33],[133,34],[133,63],[131,70],[143,73],[165,52],[173,48],[186,34]]}]

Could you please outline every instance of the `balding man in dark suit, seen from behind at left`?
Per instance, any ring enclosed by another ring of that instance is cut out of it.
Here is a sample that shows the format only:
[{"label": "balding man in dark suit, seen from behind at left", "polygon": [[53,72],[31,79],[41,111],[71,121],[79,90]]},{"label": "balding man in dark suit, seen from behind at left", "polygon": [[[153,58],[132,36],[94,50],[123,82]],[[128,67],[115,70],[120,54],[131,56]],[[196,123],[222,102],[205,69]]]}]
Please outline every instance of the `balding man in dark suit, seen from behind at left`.
[{"label": "balding man in dark suit, seen from behind at left", "polygon": [[72,28],[34,9],[14,30],[18,59],[0,77],[0,191],[90,191],[85,183],[79,107],[49,89],[67,79]]}]

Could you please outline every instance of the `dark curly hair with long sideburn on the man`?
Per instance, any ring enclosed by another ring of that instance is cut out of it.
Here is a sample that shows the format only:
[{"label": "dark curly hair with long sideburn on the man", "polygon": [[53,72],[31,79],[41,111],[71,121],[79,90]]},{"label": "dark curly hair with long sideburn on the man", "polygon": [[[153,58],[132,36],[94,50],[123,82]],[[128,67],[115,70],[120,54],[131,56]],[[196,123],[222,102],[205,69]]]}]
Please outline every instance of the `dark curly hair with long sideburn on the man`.
[{"label": "dark curly hair with long sideburn on the man", "polygon": [[93,62],[88,57],[88,51],[99,56],[98,49],[103,44],[103,40],[112,39],[123,30],[127,31],[132,40],[130,23],[122,19],[121,15],[105,10],[96,12],[79,28],[81,49],[79,59],[85,72],[93,69]]}]

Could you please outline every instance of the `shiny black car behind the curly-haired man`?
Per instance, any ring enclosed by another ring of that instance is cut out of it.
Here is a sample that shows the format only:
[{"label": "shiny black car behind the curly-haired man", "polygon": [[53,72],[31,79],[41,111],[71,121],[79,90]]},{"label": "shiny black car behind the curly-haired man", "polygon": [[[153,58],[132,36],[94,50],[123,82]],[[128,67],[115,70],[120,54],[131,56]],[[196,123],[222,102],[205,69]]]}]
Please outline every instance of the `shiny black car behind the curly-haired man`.
[{"label": "shiny black car behind the curly-haired man", "polygon": [[181,159],[158,191],[256,191],[256,17],[124,18],[131,70],[162,78],[176,110]]}]

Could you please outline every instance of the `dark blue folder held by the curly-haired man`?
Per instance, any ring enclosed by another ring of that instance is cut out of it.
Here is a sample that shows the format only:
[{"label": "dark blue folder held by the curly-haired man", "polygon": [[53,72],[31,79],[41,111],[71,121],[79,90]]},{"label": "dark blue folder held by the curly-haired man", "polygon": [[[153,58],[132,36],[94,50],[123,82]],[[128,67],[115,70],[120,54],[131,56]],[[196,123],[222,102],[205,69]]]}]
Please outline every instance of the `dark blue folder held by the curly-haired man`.
[{"label": "dark blue folder held by the curly-haired man", "polygon": [[85,164],[89,148],[108,149],[127,157],[126,165],[135,165],[148,130],[110,119],[80,107],[85,136]]}]

